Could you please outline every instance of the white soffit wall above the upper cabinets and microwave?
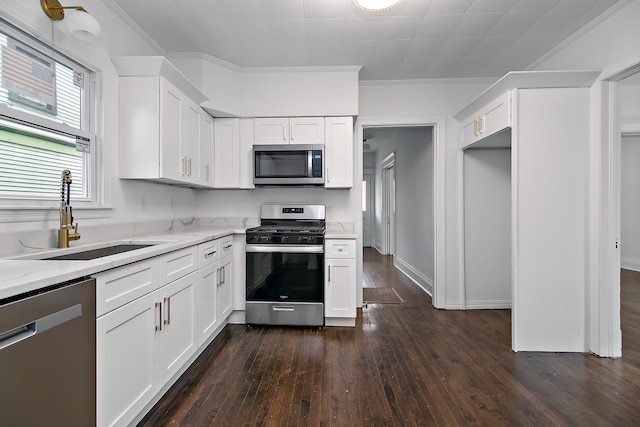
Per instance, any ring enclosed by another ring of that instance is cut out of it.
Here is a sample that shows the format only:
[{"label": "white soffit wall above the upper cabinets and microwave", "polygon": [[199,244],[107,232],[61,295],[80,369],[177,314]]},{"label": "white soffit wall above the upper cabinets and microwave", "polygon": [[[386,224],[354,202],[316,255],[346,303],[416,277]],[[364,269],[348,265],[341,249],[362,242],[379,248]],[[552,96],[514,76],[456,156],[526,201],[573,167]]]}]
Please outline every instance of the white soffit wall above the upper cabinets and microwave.
[{"label": "white soffit wall above the upper cabinets and microwave", "polygon": [[200,54],[170,60],[209,98],[214,117],[358,115],[360,67],[240,68]]}]

